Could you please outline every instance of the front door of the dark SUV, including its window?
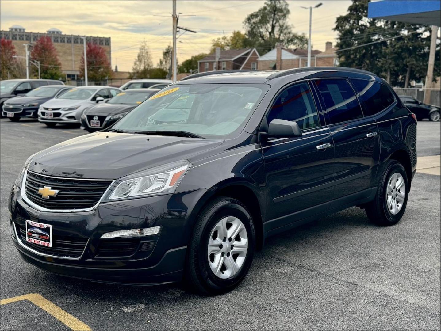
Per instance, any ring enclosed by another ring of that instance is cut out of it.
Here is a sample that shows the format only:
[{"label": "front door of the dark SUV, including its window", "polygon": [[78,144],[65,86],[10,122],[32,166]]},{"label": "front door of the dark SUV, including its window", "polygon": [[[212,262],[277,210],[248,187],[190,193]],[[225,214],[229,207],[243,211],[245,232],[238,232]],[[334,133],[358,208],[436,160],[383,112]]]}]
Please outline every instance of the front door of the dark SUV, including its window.
[{"label": "front door of the dark SUV, including its window", "polygon": [[309,82],[295,83],[280,92],[267,114],[267,123],[273,119],[296,122],[302,136],[262,141],[268,210],[265,231],[329,207],[333,140],[315,101]]}]

